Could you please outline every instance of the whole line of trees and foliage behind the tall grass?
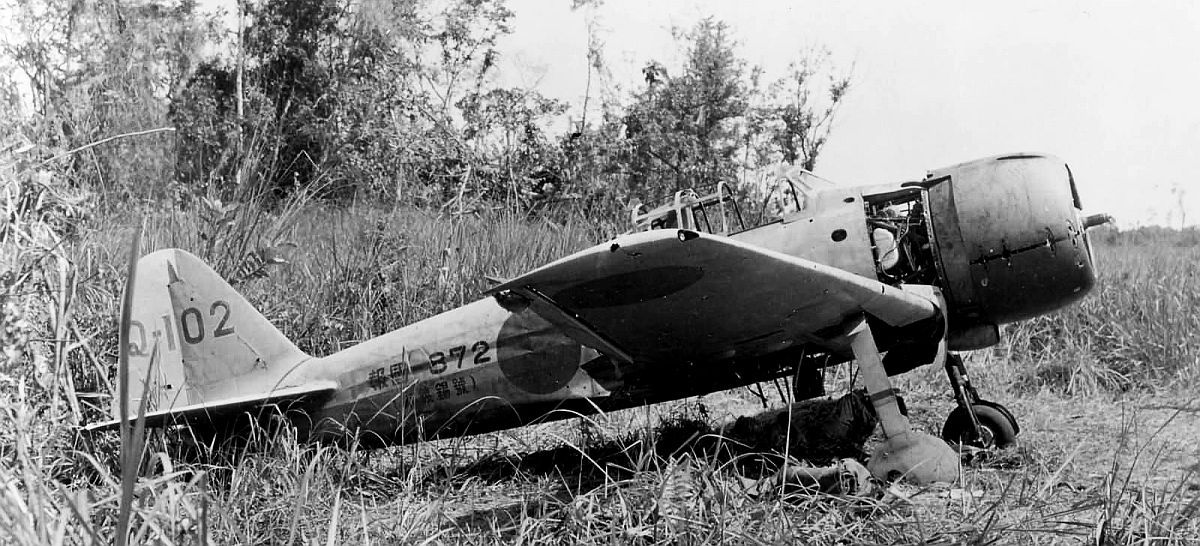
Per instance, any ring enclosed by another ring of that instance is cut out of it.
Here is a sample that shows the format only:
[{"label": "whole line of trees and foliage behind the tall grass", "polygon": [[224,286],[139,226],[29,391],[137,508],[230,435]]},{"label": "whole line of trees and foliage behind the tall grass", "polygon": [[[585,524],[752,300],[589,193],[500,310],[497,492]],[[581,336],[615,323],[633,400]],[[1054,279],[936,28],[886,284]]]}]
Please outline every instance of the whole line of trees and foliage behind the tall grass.
[{"label": "whole line of trees and foliage behind the tall grass", "polygon": [[[678,66],[648,60],[632,92],[601,90],[589,115],[593,77],[611,85],[592,32],[583,115],[556,133],[570,104],[496,83],[504,0],[242,0],[226,34],[192,0],[20,6],[5,52],[32,83],[40,144],[176,130],[71,157],[79,184],[126,196],[317,188],[455,210],[616,209],[745,188],[779,162],[812,168],[850,83],[805,55],[763,86],[732,29],[708,18],[674,32]],[[148,149],[154,168],[130,168]]]}]

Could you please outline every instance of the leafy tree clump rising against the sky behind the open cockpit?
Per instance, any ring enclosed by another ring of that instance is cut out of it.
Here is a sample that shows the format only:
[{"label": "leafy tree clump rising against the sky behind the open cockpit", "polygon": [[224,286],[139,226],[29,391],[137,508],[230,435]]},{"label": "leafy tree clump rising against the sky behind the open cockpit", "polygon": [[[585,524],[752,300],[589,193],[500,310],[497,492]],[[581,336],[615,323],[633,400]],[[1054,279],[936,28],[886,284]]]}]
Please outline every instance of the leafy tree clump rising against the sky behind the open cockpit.
[{"label": "leafy tree clump rising against the sky behind the open cockpit", "polygon": [[725,181],[752,210],[779,163],[816,164],[850,89],[848,76],[829,76],[828,53],[805,53],[763,89],[726,24],[703,19],[674,36],[680,67],[648,61],[628,107],[606,104],[598,126],[563,140],[571,179],[587,181],[581,193],[624,203]]}]

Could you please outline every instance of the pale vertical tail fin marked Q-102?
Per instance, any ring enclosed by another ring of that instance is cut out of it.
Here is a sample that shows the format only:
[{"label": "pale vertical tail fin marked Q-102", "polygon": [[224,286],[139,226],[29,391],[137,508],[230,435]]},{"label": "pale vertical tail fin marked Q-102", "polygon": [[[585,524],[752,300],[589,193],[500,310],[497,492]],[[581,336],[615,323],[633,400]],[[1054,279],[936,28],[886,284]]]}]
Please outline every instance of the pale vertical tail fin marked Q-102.
[{"label": "pale vertical tail fin marked Q-102", "polygon": [[299,384],[289,372],[310,358],[181,250],[138,262],[131,313],[130,403],[148,398],[151,412],[266,396]]}]

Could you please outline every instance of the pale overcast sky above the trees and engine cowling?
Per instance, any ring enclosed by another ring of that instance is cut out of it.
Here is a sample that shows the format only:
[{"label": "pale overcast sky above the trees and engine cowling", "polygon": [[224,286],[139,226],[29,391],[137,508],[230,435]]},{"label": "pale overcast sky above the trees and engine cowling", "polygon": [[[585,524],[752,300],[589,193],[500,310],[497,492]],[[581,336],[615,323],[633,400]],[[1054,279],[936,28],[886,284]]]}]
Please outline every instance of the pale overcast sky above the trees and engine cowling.
[{"label": "pale overcast sky above the trees and engine cowling", "polygon": [[817,163],[824,178],[910,180],[1043,151],[1070,164],[1085,209],[1120,226],[1178,226],[1181,211],[1200,222],[1200,2],[606,0],[577,12],[569,4],[510,0],[505,79],[581,103],[592,18],[614,80],[632,89],[648,59],[676,56],[672,26],[713,16],[768,76],[814,46],[853,66]]}]

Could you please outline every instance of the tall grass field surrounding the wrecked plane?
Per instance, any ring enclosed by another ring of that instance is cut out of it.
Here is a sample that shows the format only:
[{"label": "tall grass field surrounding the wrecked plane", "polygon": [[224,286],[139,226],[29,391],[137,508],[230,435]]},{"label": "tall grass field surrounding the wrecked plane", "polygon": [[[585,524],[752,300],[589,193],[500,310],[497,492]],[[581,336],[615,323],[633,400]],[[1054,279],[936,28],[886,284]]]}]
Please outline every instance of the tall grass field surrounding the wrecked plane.
[{"label": "tall grass field surrounding the wrecked plane", "polygon": [[[977,386],[1018,414],[1022,434],[972,458],[954,487],[756,488],[727,462],[666,449],[683,425],[760,410],[746,389],[368,452],[284,431],[197,457],[151,434],[133,484],[115,436],[73,427],[109,404],[138,216],[144,250],[205,258],[314,354],[470,301],[485,276],[619,227],[302,200],[271,212],[215,200],[62,209],[12,215],[0,238],[2,542],[112,544],[126,526],[131,544],[1200,541],[1200,247],[1100,246],[1099,286],[1082,305],[1010,325],[970,355]],[[846,371],[833,372],[836,385]],[[941,371],[898,383],[914,424],[936,433],[953,407]]]}]

